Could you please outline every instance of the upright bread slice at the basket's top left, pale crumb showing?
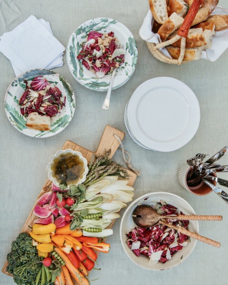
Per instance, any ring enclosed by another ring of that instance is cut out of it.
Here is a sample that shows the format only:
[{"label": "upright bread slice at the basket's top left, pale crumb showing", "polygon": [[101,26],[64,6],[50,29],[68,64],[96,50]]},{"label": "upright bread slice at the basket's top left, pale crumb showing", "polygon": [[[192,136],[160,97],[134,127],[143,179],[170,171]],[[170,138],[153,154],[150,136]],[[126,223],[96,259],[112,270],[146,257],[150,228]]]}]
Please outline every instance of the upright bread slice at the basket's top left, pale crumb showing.
[{"label": "upright bread slice at the basket's top left, pale crumb showing", "polygon": [[154,19],[163,24],[168,19],[166,0],[148,0]]}]

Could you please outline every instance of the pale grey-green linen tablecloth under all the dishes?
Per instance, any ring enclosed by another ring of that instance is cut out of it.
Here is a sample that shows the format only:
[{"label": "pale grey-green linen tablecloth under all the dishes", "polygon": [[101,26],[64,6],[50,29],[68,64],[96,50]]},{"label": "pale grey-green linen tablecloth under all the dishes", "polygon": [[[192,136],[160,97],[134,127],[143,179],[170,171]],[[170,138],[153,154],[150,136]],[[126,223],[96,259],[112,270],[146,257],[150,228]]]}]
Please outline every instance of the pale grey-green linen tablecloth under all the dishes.
[{"label": "pale grey-green linen tablecloth under all the dishes", "polygon": [[[226,6],[227,1],[219,4]],[[35,15],[50,22],[54,36],[66,46],[72,32],[88,19],[110,17],[126,25],[135,36],[139,57],[135,73],[122,87],[112,92],[109,111],[101,109],[105,93],[91,91],[71,75],[64,53],[64,66],[54,69],[68,80],[76,97],[75,115],[62,133],[47,139],[27,137],[8,121],[4,110],[7,87],[15,78],[9,60],[0,53],[1,93],[1,267],[11,242],[17,237],[32,205],[47,178],[49,157],[71,140],[90,150],[96,150],[106,125],[127,133],[124,108],[133,91],[145,80],[170,76],[186,83],[200,103],[201,121],[198,132],[184,147],[174,152],[152,152],[139,147],[128,134],[123,141],[131,153],[133,166],[142,175],[135,182],[135,198],[151,191],[172,192],[186,199],[198,214],[223,215],[223,221],[200,221],[200,234],[221,242],[219,249],[198,242],[193,253],[180,265],[161,272],[149,271],[135,265],[125,254],[119,239],[119,218],[114,234],[108,238],[111,250],[101,254],[100,271],[94,270],[93,285],[153,284],[153,285],[227,285],[228,282],[228,207],[215,193],[198,197],[178,183],[178,170],[187,158],[197,152],[214,154],[228,144],[228,51],[216,62],[197,60],[182,66],[162,63],[150,54],[146,43],[139,37],[139,28],[148,11],[146,0],[0,0],[0,35],[8,32]],[[114,156],[122,161],[121,152]],[[219,162],[228,164],[228,155]],[[228,178],[227,174],[221,175]],[[123,214],[125,209],[122,209]],[[13,278],[0,274],[1,285],[13,285]]]}]

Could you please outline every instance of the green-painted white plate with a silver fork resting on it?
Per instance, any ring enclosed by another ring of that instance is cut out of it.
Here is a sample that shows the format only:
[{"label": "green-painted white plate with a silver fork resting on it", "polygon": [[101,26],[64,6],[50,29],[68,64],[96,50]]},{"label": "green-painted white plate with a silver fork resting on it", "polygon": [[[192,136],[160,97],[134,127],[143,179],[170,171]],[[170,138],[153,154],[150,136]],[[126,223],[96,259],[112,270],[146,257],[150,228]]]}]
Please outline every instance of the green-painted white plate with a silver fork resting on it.
[{"label": "green-painted white plate with a silver fork resting on it", "polygon": [[91,30],[102,33],[114,32],[123,48],[126,49],[125,62],[116,70],[113,88],[116,89],[125,84],[135,71],[138,57],[137,45],[133,34],[125,25],[109,18],[95,18],[86,21],[78,27],[70,36],[66,47],[66,59],[70,72],[74,78],[85,87],[97,90],[107,91],[111,80],[111,74],[105,75],[103,78],[97,78],[95,75],[82,65],[77,59],[77,55],[81,49],[80,44],[86,41],[86,36]]}]

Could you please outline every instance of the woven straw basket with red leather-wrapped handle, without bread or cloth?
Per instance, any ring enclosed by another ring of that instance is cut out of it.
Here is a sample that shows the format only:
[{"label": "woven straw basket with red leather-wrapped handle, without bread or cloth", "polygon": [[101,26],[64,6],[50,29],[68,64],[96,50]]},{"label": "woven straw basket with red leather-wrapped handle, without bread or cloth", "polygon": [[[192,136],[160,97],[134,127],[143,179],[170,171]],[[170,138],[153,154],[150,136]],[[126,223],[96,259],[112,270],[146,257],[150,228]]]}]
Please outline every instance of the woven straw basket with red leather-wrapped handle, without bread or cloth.
[{"label": "woven straw basket with red leather-wrapped handle, without bread or cloth", "polygon": [[[165,42],[161,42],[159,44],[155,44],[153,42],[146,42],[149,51],[152,53],[152,55],[166,63],[170,64],[183,64],[190,62],[191,60],[184,60],[184,54],[185,54],[185,47],[186,47],[186,37],[188,36],[188,31],[192,25],[192,22],[194,21],[196,14],[200,8],[200,5],[203,3],[204,0],[194,0],[190,9],[188,10],[188,14],[186,15],[184,22],[182,26],[180,27],[177,35],[170,40],[167,40]],[[165,56],[159,48],[163,48],[165,46],[169,46],[170,44],[173,44],[174,42],[178,41],[181,39],[181,44],[180,44],[180,56],[178,59],[173,59],[169,58],[168,56]]]}]

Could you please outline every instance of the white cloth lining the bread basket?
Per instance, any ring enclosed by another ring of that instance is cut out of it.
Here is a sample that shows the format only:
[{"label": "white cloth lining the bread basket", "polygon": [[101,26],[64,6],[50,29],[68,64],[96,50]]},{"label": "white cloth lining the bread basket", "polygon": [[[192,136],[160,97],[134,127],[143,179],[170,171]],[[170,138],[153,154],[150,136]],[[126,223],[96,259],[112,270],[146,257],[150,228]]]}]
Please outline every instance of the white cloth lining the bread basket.
[{"label": "white cloth lining the bread basket", "polygon": [[[215,10],[211,13],[211,15],[218,15],[218,14],[227,15],[228,9],[217,6]],[[159,42],[161,42],[161,39],[159,34],[154,34],[154,32],[152,32],[153,24],[154,24],[154,18],[149,10],[146,17],[143,20],[143,25],[139,30],[139,36],[147,42],[154,42],[158,44]],[[217,60],[219,56],[221,56],[227,48],[228,48],[228,29],[224,31],[215,32],[211,48],[203,50],[202,58],[213,62]],[[166,48],[162,48],[160,49],[160,51],[164,55],[171,58]]]}]

